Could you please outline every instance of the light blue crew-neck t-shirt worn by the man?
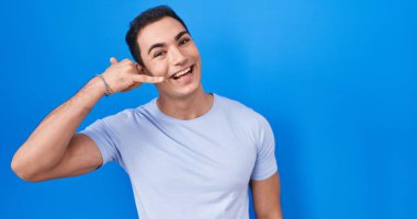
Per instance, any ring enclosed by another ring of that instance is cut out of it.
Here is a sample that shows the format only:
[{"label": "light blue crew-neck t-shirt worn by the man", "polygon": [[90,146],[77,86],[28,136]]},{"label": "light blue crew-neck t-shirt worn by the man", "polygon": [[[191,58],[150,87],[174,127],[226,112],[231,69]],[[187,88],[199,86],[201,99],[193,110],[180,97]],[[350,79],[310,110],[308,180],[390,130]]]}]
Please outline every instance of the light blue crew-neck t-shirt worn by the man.
[{"label": "light blue crew-neck t-shirt worn by the man", "polygon": [[194,119],[164,114],[155,97],[80,131],[97,143],[103,164],[115,161],[129,175],[140,219],[248,219],[249,181],[277,172],[266,118],[213,95]]}]

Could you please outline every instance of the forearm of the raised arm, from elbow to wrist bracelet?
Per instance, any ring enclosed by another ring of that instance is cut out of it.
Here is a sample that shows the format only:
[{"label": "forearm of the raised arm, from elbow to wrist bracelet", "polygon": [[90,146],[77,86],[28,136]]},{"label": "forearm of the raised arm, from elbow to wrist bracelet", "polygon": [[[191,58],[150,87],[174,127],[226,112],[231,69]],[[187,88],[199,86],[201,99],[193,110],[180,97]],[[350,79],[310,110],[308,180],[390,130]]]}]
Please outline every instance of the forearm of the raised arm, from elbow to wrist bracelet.
[{"label": "forearm of the raised arm, from elbow to wrist bracelet", "polygon": [[14,154],[13,170],[30,177],[58,164],[78,126],[103,94],[104,85],[95,77],[50,112]]}]

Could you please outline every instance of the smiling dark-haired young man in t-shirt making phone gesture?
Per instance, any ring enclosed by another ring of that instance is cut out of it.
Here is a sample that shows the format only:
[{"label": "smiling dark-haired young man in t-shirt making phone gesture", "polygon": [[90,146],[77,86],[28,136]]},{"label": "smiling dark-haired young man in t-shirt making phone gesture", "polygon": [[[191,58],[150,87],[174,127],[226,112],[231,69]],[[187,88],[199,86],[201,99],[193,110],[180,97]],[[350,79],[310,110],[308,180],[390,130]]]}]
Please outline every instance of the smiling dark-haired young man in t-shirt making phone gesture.
[{"label": "smiling dark-haired young man in t-shirt making phone gesture", "polygon": [[[201,59],[168,7],[139,14],[126,34],[136,64],[111,66],[54,110],[18,150],[13,171],[30,182],[84,174],[110,161],[129,175],[140,219],[282,218],[274,138],[239,102],[205,93]],[[159,97],[77,127],[105,94],[155,83]]]}]

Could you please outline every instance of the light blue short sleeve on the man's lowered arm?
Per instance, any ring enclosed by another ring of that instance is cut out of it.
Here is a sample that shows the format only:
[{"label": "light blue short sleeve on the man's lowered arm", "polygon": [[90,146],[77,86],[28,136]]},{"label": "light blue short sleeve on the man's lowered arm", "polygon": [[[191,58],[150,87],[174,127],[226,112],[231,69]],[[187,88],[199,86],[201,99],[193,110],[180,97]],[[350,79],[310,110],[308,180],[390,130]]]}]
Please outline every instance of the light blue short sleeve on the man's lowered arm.
[{"label": "light blue short sleeve on the man's lowered arm", "polygon": [[257,159],[250,176],[255,181],[266,180],[278,171],[272,128],[263,116],[260,116],[259,120]]}]

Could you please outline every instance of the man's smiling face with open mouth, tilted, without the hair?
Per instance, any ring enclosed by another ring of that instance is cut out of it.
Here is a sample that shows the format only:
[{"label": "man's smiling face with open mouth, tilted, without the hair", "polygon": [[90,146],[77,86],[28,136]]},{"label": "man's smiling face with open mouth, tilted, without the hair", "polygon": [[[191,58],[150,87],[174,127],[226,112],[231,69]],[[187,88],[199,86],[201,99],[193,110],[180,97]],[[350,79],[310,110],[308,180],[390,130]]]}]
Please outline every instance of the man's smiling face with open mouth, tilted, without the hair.
[{"label": "man's smiling face with open mouth, tilted, without the hair", "polygon": [[147,74],[165,77],[159,94],[183,97],[201,88],[200,53],[184,26],[172,18],[148,24],[137,36]]}]

